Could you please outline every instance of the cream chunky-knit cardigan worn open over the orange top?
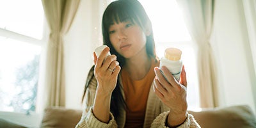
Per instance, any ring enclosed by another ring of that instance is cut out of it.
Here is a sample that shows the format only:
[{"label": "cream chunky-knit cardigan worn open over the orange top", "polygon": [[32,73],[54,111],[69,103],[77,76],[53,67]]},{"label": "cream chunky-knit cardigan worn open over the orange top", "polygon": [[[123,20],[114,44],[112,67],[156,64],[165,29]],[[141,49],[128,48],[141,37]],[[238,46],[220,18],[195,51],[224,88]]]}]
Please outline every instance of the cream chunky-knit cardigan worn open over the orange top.
[{"label": "cream chunky-knit cardigan worn open over the orange top", "polygon": [[[93,72],[90,72],[92,75]],[[120,76],[119,76],[120,77]],[[120,81],[122,83],[122,81]],[[152,86],[154,83],[152,83]],[[120,116],[118,118],[114,118],[112,113],[110,113],[111,118],[108,124],[100,122],[92,113],[92,106],[95,97],[95,92],[97,88],[97,81],[95,77],[93,77],[92,82],[90,83],[89,87],[86,90],[86,97],[85,103],[86,107],[83,111],[83,115],[81,120],[76,125],[76,127],[84,127],[84,128],[91,128],[91,127],[124,127],[125,125],[125,109],[120,110]],[[122,92],[124,95],[124,92]],[[169,109],[156,97],[156,94],[153,92],[153,88],[150,88],[150,92],[148,94],[147,100],[147,108],[145,114],[145,121],[144,126],[147,127],[166,127],[166,117],[169,113]],[[193,115],[187,113],[188,118],[186,121],[179,126],[179,128],[183,127],[190,127],[190,128],[197,128],[200,125],[197,124]]]}]

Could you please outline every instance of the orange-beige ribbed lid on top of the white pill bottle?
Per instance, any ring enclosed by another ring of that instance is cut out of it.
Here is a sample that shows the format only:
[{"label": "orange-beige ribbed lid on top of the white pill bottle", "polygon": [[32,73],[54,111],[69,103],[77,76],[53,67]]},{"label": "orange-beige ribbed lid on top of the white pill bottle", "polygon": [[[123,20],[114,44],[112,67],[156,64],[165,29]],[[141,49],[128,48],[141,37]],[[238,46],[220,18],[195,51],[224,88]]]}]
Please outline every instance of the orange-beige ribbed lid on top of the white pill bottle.
[{"label": "orange-beige ribbed lid on top of the white pill bottle", "polygon": [[167,60],[177,61],[177,60],[180,60],[181,53],[182,52],[180,51],[180,49],[170,47],[165,49],[164,57]]}]

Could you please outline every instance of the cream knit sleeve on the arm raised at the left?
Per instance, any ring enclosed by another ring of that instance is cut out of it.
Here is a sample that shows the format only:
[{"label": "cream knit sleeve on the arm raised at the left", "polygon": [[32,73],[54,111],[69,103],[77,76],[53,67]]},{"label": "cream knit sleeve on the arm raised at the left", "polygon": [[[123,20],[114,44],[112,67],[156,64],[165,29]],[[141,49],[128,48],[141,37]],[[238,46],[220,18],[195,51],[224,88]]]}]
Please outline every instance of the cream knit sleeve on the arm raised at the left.
[{"label": "cream knit sleeve on the arm raised at the left", "polygon": [[[93,72],[89,72],[89,77],[92,75]],[[110,113],[110,120],[108,124],[104,122],[100,122],[92,112],[92,106],[95,98],[97,88],[97,80],[95,77],[92,77],[92,81],[90,81],[88,88],[86,89],[85,93],[85,108],[83,110],[83,115],[81,117],[81,120],[76,125],[76,128],[89,128],[89,127],[100,127],[100,128],[114,128],[117,127],[115,118],[112,113]]]}]

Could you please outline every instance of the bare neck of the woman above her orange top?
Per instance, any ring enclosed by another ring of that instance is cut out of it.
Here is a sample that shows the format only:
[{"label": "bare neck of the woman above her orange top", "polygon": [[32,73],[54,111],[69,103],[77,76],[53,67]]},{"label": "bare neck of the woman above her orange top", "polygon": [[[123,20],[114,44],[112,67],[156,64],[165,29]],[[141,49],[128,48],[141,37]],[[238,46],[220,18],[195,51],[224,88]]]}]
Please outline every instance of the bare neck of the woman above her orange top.
[{"label": "bare neck of the woman above her orange top", "polygon": [[125,60],[125,68],[132,80],[143,79],[151,67],[151,58],[147,55],[146,49],[139,54]]}]

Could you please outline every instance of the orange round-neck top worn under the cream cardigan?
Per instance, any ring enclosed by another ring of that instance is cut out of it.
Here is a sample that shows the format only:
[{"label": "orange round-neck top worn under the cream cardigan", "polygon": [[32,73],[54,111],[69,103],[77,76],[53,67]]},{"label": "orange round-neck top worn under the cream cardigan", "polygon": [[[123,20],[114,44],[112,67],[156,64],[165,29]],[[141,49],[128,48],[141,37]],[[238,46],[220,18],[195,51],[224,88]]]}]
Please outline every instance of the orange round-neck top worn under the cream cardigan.
[{"label": "orange round-neck top worn under the cream cardigan", "polygon": [[127,70],[122,70],[122,84],[127,104],[125,127],[143,127],[148,93],[156,76],[154,73],[156,66],[159,66],[159,61],[152,60],[148,74],[138,81],[132,80]]}]

